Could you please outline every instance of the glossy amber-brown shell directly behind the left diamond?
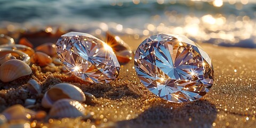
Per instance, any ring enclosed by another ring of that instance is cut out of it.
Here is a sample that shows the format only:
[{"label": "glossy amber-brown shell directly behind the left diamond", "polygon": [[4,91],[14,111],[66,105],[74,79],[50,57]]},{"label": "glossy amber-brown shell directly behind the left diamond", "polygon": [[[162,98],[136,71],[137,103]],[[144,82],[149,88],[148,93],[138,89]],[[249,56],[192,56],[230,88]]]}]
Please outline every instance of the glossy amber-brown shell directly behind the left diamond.
[{"label": "glossy amber-brown shell directly behind the left diamond", "polygon": [[121,65],[124,65],[132,60],[132,51],[128,44],[126,44],[120,37],[111,35],[109,32],[107,32],[106,35],[106,43],[112,47],[116,54],[117,60]]}]

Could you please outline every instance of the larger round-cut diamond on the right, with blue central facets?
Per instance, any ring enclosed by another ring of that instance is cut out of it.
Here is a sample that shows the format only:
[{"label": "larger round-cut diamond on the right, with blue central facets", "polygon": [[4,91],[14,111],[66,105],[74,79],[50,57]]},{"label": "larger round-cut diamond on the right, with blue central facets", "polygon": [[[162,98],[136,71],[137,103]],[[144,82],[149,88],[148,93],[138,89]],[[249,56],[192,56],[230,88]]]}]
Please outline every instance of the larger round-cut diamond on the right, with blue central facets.
[{"label": "larger round-cut diamond on the right, with blue central facets", "polygon": [[197,100],[213,84],[211,58],[199,45],[181,35],[148,37],[139,45],[134,65],[140,81],[171,102]]}]

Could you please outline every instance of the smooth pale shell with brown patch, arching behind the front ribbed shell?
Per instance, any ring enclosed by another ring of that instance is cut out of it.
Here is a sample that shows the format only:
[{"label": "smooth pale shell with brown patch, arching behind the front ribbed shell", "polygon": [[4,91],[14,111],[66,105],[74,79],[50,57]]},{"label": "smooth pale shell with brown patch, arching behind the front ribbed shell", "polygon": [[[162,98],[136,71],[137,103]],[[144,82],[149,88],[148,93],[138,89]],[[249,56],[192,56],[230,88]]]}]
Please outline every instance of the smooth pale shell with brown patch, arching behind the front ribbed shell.
[{"label": "smooth pale shell with brown patch, arching behind the front ribbed shell", "polygon": [[73,99],[79,102],[85,101],[85,95],[79,87],[73,84],[60,83],[54,85],[44,94],[42,106],[44,108],[50,108],[55,101],[64,98]]}]

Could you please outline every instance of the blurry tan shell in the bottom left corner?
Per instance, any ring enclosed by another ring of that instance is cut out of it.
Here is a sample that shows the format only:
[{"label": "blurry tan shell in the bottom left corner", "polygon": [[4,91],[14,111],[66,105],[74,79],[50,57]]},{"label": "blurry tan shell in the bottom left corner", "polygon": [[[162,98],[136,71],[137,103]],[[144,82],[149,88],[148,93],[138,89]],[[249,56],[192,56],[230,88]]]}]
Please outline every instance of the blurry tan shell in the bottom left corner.
[{"label": "blurry tan shell in the bottom left corner", "polygon": [[18,120],[25,119],[26,121],[30,121],[36,115],[36,112],[27,108],[24,108],[21,105],[14,105],[7,109],[5,109],[2,113],[7,120]]}]

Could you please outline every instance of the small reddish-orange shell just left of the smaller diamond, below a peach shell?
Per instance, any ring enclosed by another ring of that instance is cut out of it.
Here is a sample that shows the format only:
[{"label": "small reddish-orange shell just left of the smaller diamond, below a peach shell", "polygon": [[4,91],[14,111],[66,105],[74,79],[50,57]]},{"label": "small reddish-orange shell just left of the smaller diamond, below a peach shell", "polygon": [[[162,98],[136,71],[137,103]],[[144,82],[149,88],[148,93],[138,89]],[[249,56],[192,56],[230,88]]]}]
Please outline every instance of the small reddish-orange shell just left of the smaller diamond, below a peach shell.
[{"label": "small reddish-orange shell just left of the smaller diamond, below a peach shell", "polygon": [[43,52],[35,52],[31,57],[31,63],[36,63],[38,66],[47,66],[52,63],[52,58]]}]

